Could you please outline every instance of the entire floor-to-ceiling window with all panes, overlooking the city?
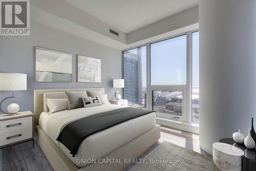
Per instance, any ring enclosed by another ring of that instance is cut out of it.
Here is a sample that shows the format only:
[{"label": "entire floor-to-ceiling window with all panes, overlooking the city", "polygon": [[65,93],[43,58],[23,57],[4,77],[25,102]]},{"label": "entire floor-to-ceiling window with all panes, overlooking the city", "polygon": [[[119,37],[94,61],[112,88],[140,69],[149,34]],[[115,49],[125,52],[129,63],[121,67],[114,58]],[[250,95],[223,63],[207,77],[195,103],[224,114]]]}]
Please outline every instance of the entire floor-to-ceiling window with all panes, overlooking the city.
[{"label": "entire floor-to-ceiling window with all panes, overlooking the city", "polygon": [[123,98],[158,118],[199,123],[199,31],[123,51]]}]

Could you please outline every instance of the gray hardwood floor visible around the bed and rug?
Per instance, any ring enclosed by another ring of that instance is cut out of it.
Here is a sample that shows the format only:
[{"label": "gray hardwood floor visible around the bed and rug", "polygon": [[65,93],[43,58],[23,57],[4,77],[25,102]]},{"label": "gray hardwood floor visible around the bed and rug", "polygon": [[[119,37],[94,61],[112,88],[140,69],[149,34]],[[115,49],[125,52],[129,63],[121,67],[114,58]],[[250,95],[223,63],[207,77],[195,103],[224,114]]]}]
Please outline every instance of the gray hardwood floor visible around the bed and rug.
[{"label": "gray hardwood floor visible around the bed and rug", "polygon": [[[184,131],[161,127],[161,138],[159,143],[168,141],[173,144],[191,149],[195,152],[207,155],[199,147],[199,135]],[[152,147],[153,148],[153,147]],[[146,154],[145,154],[146,155]],[[2,150],[3,171],[24,170],[24,171],[51,171],[53,168],[48,163],[45,155],[37,142],[33,149],[32,142],[18,144]]]}]

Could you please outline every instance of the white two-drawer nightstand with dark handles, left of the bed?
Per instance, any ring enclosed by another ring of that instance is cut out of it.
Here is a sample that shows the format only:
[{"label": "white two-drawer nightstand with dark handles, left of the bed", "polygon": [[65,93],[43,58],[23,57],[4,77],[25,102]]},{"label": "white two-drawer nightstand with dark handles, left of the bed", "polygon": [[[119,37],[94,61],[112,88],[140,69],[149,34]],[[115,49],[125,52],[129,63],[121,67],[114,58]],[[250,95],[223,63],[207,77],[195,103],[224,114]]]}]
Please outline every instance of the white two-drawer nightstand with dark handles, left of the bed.
[{"label": "white two-drawer nightstand with dark handles, left of the bed", "polygon": [[0,115],[0,149],[27,141],[33,141],[34,148],[34,114],[32,112]]}]

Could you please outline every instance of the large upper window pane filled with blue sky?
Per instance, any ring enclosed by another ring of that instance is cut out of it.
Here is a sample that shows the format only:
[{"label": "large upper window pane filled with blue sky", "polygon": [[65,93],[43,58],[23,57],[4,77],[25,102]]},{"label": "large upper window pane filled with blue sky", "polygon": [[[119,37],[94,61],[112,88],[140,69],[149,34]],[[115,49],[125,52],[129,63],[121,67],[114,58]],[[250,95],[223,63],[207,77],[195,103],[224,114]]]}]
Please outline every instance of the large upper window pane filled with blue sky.
[{"label": "large upper window pane filled with blue sky", "polygon": [[186,85],[187,36],[150,45],[151,85]]}]

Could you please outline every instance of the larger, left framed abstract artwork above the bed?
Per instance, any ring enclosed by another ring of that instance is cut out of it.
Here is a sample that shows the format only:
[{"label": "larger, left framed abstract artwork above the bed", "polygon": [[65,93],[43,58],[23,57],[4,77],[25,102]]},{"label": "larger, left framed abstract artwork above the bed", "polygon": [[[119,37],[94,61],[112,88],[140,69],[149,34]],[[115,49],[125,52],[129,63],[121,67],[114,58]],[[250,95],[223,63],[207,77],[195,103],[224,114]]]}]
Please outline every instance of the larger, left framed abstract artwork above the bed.
[{"label": "larger, left framed abstract artwork above the bed", "polygon": [[35,48],[36,82],[72,82],[72,54]]}]

